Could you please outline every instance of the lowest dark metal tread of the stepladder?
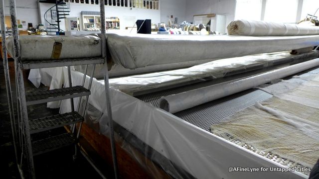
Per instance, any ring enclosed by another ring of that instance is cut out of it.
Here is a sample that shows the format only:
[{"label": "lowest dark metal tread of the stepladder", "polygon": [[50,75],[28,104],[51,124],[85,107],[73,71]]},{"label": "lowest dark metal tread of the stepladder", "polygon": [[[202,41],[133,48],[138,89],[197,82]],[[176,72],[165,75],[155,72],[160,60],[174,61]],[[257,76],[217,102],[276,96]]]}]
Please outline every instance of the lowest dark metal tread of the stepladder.
[{"label": "lowest dark metal tread of the stepladder", "polygon": [[32,152],[33,156],[50,152],[62,147],[66,147],[74,144],[76,141],[75,136],[72,133],[65,133],[46,139],[33,141]]}]

